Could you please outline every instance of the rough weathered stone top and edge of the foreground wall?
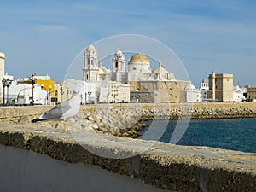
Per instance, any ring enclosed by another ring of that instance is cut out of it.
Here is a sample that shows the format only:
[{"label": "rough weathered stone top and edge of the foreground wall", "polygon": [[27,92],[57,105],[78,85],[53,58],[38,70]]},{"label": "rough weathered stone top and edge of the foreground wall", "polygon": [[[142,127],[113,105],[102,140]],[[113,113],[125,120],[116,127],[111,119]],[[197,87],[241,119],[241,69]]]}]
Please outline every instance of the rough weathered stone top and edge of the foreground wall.
[{"label": "rough weathered stone top and edge of the foreground wall", "polygon": [[[0,144],[47,154],[56,160],[96,165],[172,191],[256,191],[256,154],[112,136],[102,139],[93,137],[90,131],[81,133],[78,131],[83,137],[77,143],[61,129],[2,124]],[[140,154],[142,148],[146,152]],[[139,154],[110,159],[94,151]]]}]

